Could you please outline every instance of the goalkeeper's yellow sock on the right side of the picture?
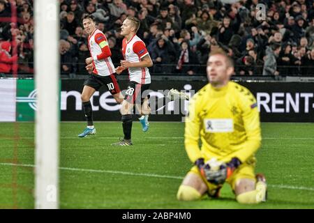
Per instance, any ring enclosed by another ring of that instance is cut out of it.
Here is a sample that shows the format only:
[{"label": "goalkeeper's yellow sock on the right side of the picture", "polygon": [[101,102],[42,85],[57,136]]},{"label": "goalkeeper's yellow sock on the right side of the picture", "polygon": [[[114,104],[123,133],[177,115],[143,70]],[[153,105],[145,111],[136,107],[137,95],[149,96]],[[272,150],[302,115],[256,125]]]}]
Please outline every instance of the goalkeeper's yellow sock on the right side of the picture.
[{"label": "goalkeeper's yellow sock on the right side of the picture", "polygon": [[260,203],[264,201],[267,186],[263,182],[257,182],[255,190],[239,194],[237,201],[239,203]]}]

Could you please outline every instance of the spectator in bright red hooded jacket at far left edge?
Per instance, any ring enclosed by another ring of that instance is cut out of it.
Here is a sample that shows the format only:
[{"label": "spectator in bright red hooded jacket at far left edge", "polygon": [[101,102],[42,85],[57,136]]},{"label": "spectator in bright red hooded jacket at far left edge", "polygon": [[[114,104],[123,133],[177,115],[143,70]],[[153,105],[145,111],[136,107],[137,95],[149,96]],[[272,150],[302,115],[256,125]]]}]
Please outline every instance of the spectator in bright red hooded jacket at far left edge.
[{"label": "spectator in bright red hooded jacket at far left edge", "polygon": [[1,43],[0,51],[0,73],[8,73],[13,68],[13,62],[17,61],[18,56],[11,56],[11,44],[6,41]]}]

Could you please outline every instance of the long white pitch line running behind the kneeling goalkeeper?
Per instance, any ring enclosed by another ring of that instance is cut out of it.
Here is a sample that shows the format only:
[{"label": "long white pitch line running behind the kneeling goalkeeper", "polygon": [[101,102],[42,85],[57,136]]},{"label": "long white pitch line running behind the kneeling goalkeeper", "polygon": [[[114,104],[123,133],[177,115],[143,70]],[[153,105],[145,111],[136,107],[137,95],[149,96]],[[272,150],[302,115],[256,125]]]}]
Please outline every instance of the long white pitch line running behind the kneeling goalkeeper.
[{"label": "long white pitch line running behind the kneeling goalkeeper", "polygon": [[[33,164],[14,164],[10,162],[0,162],[2,166],[17,166],[17,167],[35,167]],[[170,178],[170,179],[179,179],[182,180],[184,177],[182,176],[167,176],[167,175],[159,175],[159,174],[141,174],[141,173],[132,173],[126,171],[111,171],[111,170],[102,170],[102,169],[80,169],[80,168],[71,168],[71,167],[59,167],[59,169],[67,170],[67,171],[82,171],[89,173],[102,173],[102,174],[122,174],[129,176],[147,176],[147,177],[155,177],[155,178]],[[296,187],[291,185],[268,185],[269,187],[277,187],[282,189],[290,189],[290,190],[310,190],[314,191],[314,187]]]}]

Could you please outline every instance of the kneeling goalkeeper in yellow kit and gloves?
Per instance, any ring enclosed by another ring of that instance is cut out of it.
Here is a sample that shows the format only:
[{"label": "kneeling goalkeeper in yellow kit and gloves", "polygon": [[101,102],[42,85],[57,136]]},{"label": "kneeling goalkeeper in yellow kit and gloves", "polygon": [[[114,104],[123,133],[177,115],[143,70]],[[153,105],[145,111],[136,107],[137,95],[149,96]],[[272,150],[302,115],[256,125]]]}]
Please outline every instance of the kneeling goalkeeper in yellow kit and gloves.
[{"label": "kneeling goalkeeper in yellow kit and gloves", "polygon": [[266,180],[262,174],[255,175],[260,114],[251,92],[230,82],[233,73],[233,61],[225,52],[211,52],[207,61],[210,83],[190,100],[186,118],[184,143],[195,166],[179,187],[181,201],[197,200],[206,193],[219,197],[223,183],[231,185],[239,203],[266,201]]}]

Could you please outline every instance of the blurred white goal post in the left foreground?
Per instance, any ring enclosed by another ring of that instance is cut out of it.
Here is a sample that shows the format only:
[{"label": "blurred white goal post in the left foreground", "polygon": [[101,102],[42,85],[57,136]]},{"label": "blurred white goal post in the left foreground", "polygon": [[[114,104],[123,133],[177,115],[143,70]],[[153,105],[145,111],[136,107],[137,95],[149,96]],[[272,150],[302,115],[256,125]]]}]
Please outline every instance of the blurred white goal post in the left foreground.
[{"label": "blurred white goal post in the left foreground", "polygon": [[35,208],[59,208],[59,0],[34,1]]}]

